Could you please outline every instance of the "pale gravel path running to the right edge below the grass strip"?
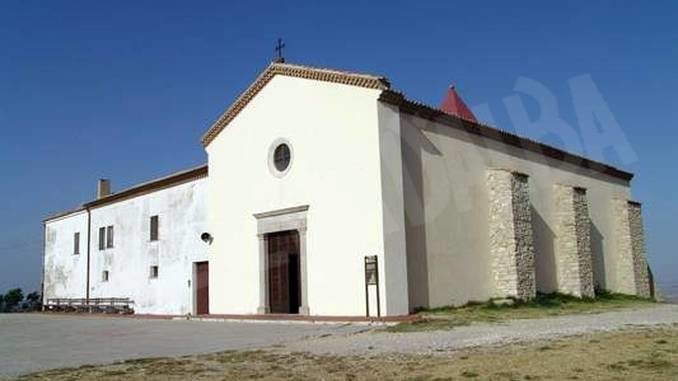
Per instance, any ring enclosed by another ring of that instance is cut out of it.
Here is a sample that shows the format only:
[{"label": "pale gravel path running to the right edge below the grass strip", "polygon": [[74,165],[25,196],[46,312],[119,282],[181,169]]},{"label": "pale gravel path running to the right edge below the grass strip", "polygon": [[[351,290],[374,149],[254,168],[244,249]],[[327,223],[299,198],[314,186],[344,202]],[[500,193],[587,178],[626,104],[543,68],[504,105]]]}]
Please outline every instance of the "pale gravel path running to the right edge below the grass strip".
[{"label": "pale gravel path running to the right edge below the grass strip", "polygon": [[449,331],[390,333],[368,330],[361,333],[309,338],[290,343],[285,349],[332,355],[434,354],[631,327],[677,324],[678,305],[672,304],[601,314],[477,324]]}]

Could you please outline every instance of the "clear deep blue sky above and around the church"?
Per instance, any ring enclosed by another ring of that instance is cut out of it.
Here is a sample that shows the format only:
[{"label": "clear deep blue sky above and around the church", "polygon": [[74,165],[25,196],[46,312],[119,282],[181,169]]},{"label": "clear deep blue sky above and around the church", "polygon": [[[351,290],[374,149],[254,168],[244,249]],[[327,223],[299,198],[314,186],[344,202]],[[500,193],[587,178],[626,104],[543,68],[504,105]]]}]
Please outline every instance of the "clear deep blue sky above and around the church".
[{"label": "clear deep blue sky above and around the church", "polygon": [[0,4],[0,292],[37,289],[43,217],[91,199],[97,178],[121,189],[203,163],[201,134],[279,36],[289,61],[383,74],[429,104],[454,82],[508,130],[518,78],[577,126],[568,80],[590,75],[637,156],[608,161],[637,173],[651,264],[675,276],[675,2],[237,3]]}]

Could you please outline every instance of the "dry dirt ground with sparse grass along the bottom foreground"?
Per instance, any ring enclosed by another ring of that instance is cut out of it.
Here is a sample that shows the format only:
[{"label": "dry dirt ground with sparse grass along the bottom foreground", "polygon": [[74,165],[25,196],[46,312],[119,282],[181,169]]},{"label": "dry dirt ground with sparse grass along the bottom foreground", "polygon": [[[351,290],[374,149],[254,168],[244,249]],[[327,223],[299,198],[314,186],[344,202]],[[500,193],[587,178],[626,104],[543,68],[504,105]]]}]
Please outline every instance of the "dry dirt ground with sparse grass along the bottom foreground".
[{"label": "dry dirt ground with sparse grass along the bottom foreground", "polygon": [[20,379],[672,380],[678,379],[678,324],[426,356],[227,351],[83,366]]}]

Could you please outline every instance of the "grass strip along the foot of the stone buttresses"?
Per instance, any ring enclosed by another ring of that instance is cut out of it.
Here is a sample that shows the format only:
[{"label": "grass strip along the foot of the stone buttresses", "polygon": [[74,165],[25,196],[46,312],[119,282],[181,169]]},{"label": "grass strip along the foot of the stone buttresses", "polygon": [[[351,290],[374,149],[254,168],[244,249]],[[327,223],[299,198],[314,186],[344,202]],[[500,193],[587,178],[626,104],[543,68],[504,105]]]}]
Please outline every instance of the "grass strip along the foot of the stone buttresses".
[{"label": "grass strip along the foot of the stone buttresses", "polygon": [[635,296],[597,291],[595,298],[577,298],[559,293],[538,294],[531,301],[497,300],[470,302],[461,307],[420,310],[417,319],[386,328],[391,332],[448,330],[474,322],[495,323],[511,319],[534,319],[583,313],[601,313],[622,308],[647,307],[656,302]]}]

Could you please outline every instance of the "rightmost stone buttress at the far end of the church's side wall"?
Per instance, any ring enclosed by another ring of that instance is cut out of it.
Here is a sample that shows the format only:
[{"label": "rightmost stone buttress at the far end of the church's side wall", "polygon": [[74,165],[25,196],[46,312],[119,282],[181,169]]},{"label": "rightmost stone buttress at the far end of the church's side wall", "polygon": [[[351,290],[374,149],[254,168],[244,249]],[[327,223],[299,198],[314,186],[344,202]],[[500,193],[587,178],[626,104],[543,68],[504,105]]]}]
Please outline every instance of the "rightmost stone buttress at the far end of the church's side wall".
[{"label": "rightmost stone buttress at the far end of the church's side wall", "polygon": [[612,202],[618,252],[614,291],[648,297],[650,285],[640,204],[624,199]]}]

